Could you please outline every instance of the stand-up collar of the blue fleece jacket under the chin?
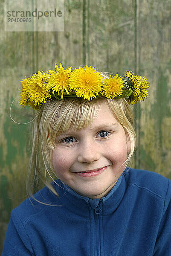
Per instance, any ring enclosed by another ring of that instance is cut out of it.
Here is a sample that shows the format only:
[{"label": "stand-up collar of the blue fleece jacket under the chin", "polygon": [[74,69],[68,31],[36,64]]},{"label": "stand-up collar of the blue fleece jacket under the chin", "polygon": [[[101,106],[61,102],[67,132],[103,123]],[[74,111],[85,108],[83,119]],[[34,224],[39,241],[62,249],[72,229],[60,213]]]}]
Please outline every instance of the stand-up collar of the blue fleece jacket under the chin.
[{"label": "stand-up collar of the blue fleece jacket under the chin", "polygon": [[79,195],[70,186],[67,186],[65,183],[61,182],[61,180],[56,180],[55,189],[59,195],[59,200],[62,205],[65,205],[70,211],[75,212],[75,214],[82,216],[89,216],[90,209],[100,209],[102,215],[108,215],[113,213],[120,202],[125,193],[126,182],[124,174],[119,177],[115,186],[110,190],[110,192],[103,198],[91,199],[88,197],[84,197]]}]

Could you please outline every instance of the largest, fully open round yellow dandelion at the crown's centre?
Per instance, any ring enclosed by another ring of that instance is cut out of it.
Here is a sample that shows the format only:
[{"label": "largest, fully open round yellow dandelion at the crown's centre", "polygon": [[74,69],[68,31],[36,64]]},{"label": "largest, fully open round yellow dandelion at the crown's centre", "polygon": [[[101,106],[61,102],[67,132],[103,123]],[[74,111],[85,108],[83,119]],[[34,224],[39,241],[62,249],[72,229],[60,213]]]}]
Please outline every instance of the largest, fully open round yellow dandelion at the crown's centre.
[{"label": "largest, fully open round yellow dandelion at the crown's centre", "polygon": [[79,67],[71,72],[69,86],[75,91],[77,97],[83,96],[90,101],[92,97],[97,99],[94,93],[99,96],[103,80],[103,76],[96,72],[94,67]]}]

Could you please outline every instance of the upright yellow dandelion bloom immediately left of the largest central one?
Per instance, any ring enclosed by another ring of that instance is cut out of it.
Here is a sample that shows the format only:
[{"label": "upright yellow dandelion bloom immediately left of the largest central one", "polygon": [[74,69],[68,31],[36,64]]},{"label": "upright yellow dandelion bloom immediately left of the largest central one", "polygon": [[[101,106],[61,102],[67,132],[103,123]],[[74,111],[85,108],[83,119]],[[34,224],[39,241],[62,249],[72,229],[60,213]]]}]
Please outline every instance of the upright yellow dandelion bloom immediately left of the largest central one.
[{"label": "upright yellow dandelion bloom immediately left of the largest central one", "polygon": [[61,99],[64,97],[64,90],[69,94],[70,89],[68,88],[68,80],[70,78],[71,67],[67,67],[65,70],[62,64],[58,67],[55,63],[56,70],[49,70],[48,73],[48,81],[49,84],[47,86],[48,89],[52,88],[52,93],[59,92],[61,93]]}]

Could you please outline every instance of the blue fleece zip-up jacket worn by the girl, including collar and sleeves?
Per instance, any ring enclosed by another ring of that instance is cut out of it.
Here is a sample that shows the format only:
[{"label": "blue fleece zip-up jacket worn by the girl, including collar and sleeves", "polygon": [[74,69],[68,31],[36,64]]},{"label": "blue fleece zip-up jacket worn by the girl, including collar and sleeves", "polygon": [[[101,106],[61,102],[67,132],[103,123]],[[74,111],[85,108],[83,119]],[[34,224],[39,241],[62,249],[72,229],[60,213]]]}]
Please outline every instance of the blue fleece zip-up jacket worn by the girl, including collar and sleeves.
[{"label": "blue fleece zip-up jacket worn by the girl, including collar and sleeves", "polygon": [[11,212],[3,256],[171,256],[171,180],[128,169],[90,199],[56,180]]}]

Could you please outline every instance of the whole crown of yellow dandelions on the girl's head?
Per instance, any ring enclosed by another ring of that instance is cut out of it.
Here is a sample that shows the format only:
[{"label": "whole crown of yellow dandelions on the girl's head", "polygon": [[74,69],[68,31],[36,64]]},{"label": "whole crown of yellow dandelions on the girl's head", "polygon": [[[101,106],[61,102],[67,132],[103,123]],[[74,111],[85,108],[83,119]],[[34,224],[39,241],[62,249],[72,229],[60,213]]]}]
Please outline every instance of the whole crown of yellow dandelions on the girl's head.
[{"label": "whole crown of yellow dandelions on the girl's head", "polygon": [[21,81],[20,105],[31,106],[35,110],[52,98],[83,97],[89,101],[92,98],[106,97],[109,99],[125,98],[129,104],[142,102],[147,98],[149,83],[145,77],[134,76],[127,71],[124,80],[122,76],[104,78],[94,67],[72,67],[64,69],[62,64],[56,70],[43,71]]}]

